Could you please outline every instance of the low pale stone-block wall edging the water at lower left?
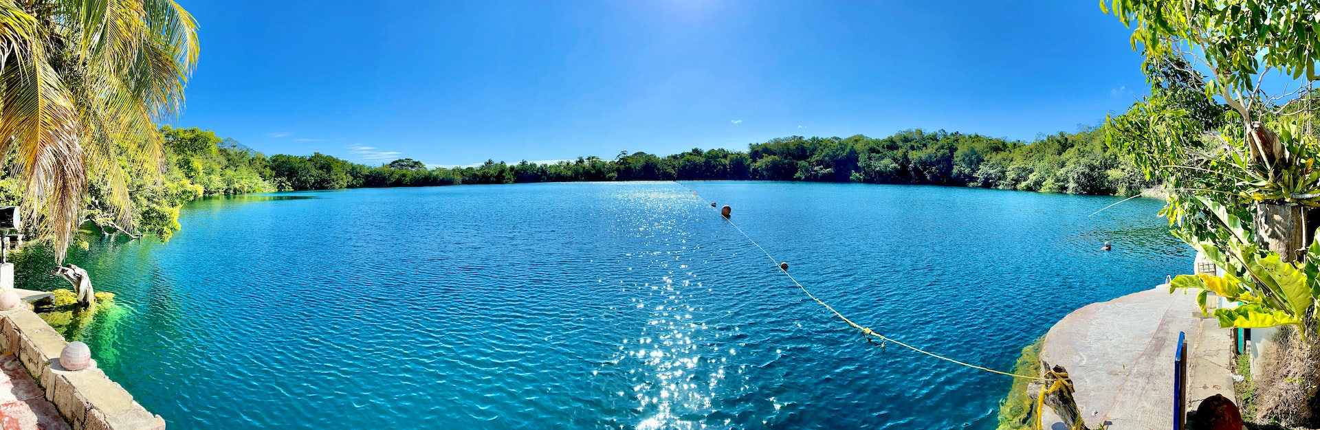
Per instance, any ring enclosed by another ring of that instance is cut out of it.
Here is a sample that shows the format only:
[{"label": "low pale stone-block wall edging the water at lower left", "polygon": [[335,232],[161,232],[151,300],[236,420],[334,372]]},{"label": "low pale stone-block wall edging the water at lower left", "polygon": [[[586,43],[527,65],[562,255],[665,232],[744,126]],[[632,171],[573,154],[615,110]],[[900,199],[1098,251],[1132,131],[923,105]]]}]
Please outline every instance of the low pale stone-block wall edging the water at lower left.
[{"label": "low pale stone-block wall edging the water at lower left", "polygon": [[0,352],[18,357],[74,430],[165,429],[165,419],[133,401],[95,361],[82,371],[59,367],[67,342],[32,310],[0,311]]}]

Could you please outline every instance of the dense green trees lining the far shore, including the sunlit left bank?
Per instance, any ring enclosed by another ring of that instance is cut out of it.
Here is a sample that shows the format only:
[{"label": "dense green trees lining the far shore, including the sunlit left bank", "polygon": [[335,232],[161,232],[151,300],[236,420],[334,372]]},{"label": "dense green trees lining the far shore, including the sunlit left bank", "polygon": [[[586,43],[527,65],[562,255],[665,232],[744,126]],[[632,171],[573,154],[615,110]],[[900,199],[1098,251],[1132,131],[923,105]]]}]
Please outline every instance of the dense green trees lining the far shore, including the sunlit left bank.
[{"label": "dense green trees lining the far shore, including the sunlit left bank", "polygon": [[[656,156],[619,153],[556,164],[487,161],[475,168],[433,168],[403,158],[368,166],[314,153],[265,154],[211,131],[162,127],[161,183],[132,179],[135,222],[123,228],[98,204],[92,187],[87,220],[107,231],[178,230],[178,207],[198,197],[284,190],[521,183],[568,181],[771,179],[974,186],[1071,194],[1133,195],[1150,187],[1142,171],[1105,145],[1104,132],[1039,136],[1032,142],[957,132],[911,129],[888,137],[783,137],[746,152],[692,149]],[[17,198],[17,195],[13,195]]]}]

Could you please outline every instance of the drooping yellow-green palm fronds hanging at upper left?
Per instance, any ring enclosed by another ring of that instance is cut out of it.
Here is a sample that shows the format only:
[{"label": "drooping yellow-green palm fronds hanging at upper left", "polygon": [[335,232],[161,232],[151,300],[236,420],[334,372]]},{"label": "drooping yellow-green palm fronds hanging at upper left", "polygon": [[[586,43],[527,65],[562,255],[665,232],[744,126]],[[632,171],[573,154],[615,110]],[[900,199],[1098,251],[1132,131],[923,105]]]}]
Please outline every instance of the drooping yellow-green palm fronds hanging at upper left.
[{"label": "drooping yellow-green palm fronds hanging at upper left", "polygon": [[174,0],[0,0],[0,154],[58,260],[90,181],[132,224],[125,175],[158,179],[156,124],[182,107],[197,54]]}]

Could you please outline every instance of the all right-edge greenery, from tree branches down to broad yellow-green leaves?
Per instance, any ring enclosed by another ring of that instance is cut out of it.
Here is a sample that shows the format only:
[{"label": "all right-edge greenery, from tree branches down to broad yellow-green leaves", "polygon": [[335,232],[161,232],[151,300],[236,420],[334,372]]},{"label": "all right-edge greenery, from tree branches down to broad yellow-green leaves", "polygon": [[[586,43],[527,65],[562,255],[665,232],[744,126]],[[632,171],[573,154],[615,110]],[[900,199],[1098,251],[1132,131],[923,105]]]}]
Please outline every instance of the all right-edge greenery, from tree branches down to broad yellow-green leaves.
[{"label": "all right-edge greenery, from tree branches down to broad yellow-green leaves", "polygon": [[[1160,214],[1175,235],[1225,270],[1179,276],[1170,289],[1200,290],[1203,310],[1212,292],[1241,302],[1216,310],[1220,326],[1299,326],[1305,336],[1320,297],[1320,243],[1304,256],[1262,251],[1251,219],[1257,203],[1320,207],[1309,91],[1320,78],[1320,4],[1110,0],[1101,8],[1133,28],[1151,83],[1150,96],[1109,117],[1106,141],[1163,183],[1170,199]],[[1305,90],[1262,86],[1266,78]]]}]

